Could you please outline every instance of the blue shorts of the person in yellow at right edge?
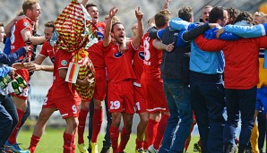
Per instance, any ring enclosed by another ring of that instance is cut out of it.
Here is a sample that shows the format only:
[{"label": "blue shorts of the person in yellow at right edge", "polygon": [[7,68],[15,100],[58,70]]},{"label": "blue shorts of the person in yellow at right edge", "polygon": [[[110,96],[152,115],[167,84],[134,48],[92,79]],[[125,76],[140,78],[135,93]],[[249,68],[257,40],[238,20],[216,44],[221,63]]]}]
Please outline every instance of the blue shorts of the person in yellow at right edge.
[{"label": "blue shorts of the person in yellow at right edge", "polygon": [[257,89],[256,110],[267,114],[267,87]]}]

